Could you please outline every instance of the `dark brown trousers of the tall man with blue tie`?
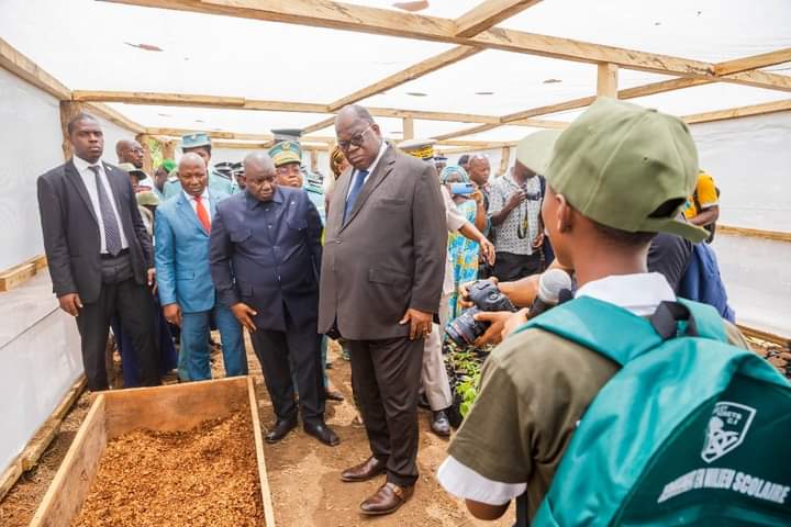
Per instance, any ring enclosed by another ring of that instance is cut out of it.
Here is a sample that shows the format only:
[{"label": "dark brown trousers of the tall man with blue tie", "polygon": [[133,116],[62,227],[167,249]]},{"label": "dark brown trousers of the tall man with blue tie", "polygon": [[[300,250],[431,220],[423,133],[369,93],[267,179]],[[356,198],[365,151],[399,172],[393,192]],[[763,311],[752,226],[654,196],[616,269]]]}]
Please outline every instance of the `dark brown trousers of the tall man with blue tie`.
[{"label": "dark brown trousers of the tall man with blue tie", "polygon": [[387,462],[387,480],[417,480],[417,390],[423,339],[349,340],[352,382],[374,457]]}]

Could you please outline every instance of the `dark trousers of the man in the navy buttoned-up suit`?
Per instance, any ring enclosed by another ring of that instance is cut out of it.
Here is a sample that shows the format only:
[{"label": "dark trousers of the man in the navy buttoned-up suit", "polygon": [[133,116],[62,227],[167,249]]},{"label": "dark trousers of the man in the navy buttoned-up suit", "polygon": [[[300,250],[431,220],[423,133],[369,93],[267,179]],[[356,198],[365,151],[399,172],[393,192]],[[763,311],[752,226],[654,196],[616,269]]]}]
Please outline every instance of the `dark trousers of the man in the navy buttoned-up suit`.
[{"label": "dark trousers of the man in the navy buttoned-up suit", "polygon": [[250,334],[253,349],[264,370],[264,380],[278,419],[297,418],[294,385],[291,381],[293,366],[302,422],[324,422],[326,395],[321,338],[315,327],[301,332],[259,328]]}]

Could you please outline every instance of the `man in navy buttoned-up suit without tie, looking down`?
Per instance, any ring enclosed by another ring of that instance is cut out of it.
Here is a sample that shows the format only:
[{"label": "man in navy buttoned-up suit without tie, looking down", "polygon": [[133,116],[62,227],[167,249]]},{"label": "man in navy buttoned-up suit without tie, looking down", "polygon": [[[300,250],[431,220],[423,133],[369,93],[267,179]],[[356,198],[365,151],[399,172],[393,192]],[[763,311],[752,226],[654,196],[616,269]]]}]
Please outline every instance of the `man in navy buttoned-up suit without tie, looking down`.
[{"label": "man in navy buttoned-up suit without tie, looking down", "polygon": [[[324,424],[319,317],[322,224],[302,189],[278,187],[271,158],[245,158],[247,188],[220,203],[211,234],[211,274],[218,294],[250,332],[277,423],[276,442],[297,426],[292,373],[304,430],[339,442]],[[293,372],[291,371],[293,365]]]}]

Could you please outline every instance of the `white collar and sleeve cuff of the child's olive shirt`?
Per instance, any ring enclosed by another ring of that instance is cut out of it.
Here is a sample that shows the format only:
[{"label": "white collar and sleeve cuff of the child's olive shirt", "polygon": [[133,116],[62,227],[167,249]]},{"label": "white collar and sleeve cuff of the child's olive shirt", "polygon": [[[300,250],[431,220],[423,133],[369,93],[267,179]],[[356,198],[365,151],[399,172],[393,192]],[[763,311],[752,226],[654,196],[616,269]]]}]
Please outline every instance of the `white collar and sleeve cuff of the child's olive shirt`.
[{"label": "white collar and sleeve cuff of the child's olive shirt", "polygon": [[[590,296],[615,304],[638,316],[653,314],[661,302],[675,301],[667,279],[658,272],[613,274],[588,282],[576,296]],[[525,483],[502,483],[479,474],[453,456],[439,466],[437,480],[450,494],[489,505],[503,505],[524,493]]]}]

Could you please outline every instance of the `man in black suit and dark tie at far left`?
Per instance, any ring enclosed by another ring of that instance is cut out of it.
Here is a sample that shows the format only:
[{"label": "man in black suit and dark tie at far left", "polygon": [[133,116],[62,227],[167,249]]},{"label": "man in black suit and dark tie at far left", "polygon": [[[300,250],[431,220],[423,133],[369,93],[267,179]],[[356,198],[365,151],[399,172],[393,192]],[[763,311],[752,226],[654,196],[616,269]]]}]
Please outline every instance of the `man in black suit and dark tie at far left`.
[{"label": "man in black suit and dark tie at far left", "polygon": [[130,177],[101,160],[104,137],[93,116],[75,116],[68,134],[74,156],[38,177],[38,211],[53,290],[77,318],[88,389],[108,389],[104,349],[114,313],[137,351],[141,383],[159,384],[146,289],[154,257]]}]

